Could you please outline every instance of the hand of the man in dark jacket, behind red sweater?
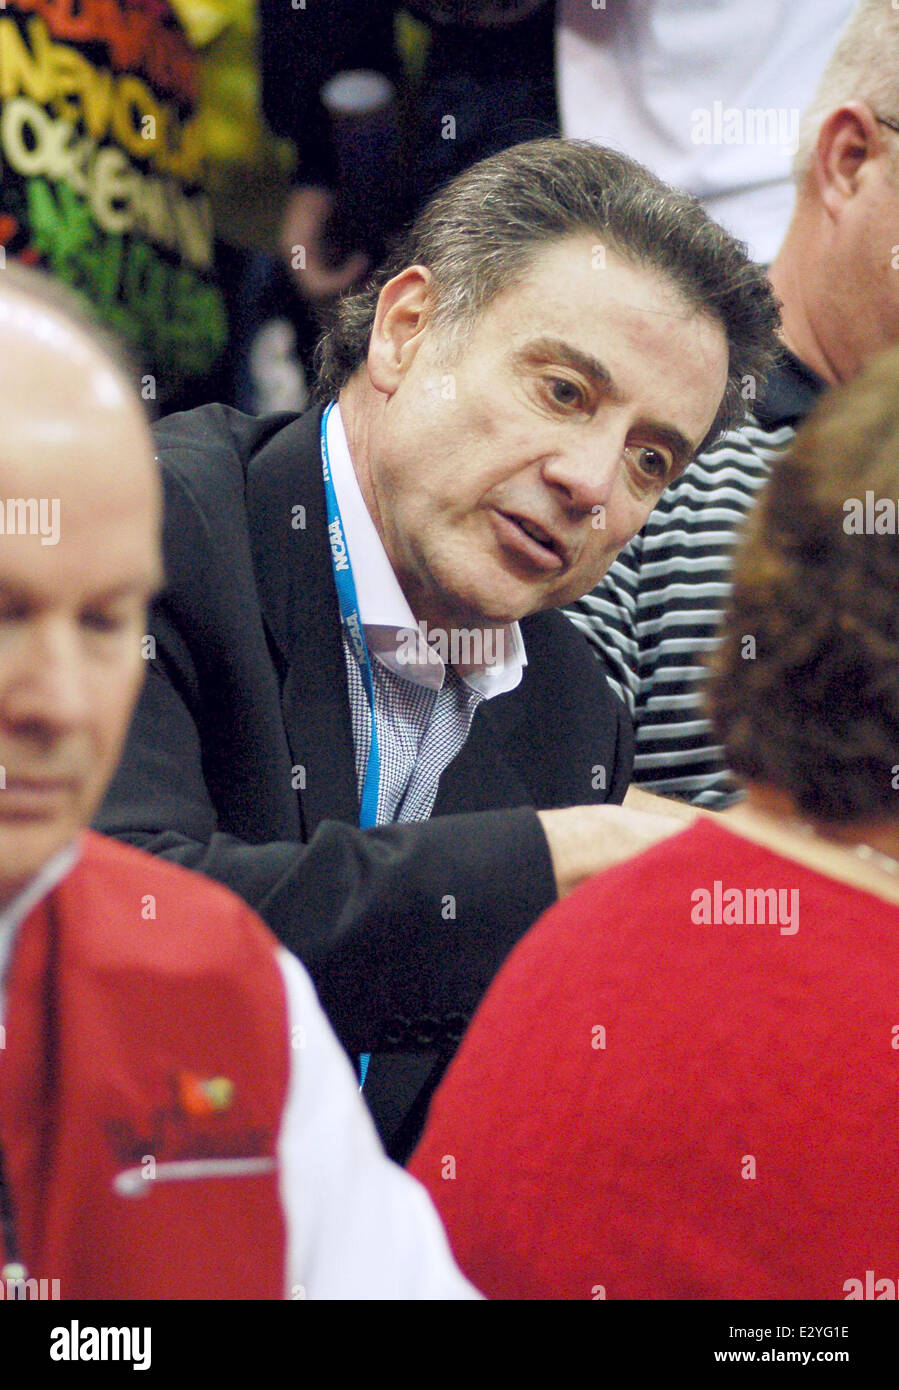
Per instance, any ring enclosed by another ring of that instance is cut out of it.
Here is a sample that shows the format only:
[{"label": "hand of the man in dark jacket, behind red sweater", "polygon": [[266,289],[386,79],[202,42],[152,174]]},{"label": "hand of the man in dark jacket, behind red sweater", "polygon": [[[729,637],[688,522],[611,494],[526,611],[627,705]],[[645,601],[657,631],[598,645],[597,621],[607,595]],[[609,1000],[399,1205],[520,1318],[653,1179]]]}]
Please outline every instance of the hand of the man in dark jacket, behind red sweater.
[{"label": "hand of the man in dark jacket, behind red sweater", "polygon": [[[660,805],[664,803],[660,801]],[[563,810],[539,810],[538,816],[549,844],[560,898],[584,878],[639,855],[660,840],[675,835],[685,824],[682,816],[656,815],[629,806],[567,806]]]}]

